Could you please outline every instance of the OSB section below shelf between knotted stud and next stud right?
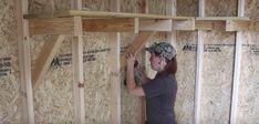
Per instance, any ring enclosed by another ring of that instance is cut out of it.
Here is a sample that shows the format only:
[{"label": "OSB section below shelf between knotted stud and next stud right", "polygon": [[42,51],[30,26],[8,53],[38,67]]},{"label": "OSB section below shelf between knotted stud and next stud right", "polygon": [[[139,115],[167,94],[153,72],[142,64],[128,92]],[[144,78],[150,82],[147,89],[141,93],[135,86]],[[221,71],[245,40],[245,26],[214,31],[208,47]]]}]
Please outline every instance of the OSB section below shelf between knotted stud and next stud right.
[{"label": "OSB section below shelf between knotted stud and next stud right", "polygon": [[103,124],[110,120],[108,46],[107,33],[84,35],[84,94],[87,124]]}]

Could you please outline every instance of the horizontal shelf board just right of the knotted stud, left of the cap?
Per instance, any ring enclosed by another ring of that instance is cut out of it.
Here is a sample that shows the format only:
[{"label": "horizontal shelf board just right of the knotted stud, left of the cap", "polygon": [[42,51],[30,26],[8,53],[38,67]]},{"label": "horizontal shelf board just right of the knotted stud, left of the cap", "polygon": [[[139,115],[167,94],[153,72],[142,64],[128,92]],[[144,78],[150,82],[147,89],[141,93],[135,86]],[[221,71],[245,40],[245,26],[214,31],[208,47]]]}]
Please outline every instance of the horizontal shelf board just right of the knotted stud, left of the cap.
[{"label": "horizontal shelf board just right of the knotted stud, left of the cap", "polygon": [[131,32],[135,29],[135,19],[84,19],[86,32]]}]

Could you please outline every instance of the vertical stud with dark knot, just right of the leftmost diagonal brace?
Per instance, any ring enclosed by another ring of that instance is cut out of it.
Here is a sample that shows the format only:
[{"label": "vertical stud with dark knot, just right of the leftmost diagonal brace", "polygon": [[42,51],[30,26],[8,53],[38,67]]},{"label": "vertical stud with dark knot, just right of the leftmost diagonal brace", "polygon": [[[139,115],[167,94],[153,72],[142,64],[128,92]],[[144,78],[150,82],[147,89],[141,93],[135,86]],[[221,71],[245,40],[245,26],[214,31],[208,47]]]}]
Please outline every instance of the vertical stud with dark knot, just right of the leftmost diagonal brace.
[{"label": "vertical stud with dark knot, just right of the leftmost diagonal brace", "polygon": [[[75,0],[75,8],[82,10],[82,0]],[[83,76],[83,24],[82,17],[74,17],[74,35],[72,41],[73,90],[75,103],[75,122],[85,124],[84,76]]]}]

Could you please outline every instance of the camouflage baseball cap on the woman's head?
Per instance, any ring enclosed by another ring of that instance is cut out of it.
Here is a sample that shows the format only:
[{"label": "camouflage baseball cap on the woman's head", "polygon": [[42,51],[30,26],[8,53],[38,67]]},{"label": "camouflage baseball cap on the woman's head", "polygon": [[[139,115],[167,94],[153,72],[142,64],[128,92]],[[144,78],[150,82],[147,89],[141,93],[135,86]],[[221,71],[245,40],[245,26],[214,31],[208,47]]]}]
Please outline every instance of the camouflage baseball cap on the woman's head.
[{"label": "camouflage baseball cap on the woman's head", "polygon": [[176,55],[175,48],[168,42],[154,43],[149,48],[146,48],[146,51],[159,53],[167,60],[172,60]]}]

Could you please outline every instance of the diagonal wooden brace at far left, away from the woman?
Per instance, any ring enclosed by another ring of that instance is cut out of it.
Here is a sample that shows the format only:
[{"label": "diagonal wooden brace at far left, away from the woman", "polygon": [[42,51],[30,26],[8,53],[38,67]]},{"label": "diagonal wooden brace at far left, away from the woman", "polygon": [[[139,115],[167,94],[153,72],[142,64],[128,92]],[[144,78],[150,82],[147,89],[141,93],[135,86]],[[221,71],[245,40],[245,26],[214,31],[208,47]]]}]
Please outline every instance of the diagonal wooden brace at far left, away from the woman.
[{"label": "diagonal wooden brace at far left, away from the woman", "polygon": [[41,50],[39,58],[32,71],[32,86],[37,89],[44,78],[50,64],[56,53],[59,46],[63,42],[65,35],[51,35]]}]

